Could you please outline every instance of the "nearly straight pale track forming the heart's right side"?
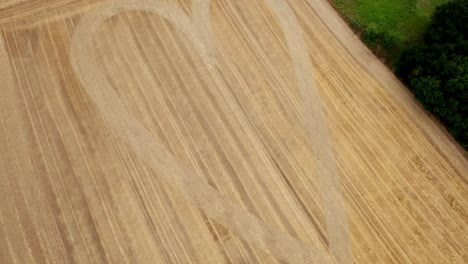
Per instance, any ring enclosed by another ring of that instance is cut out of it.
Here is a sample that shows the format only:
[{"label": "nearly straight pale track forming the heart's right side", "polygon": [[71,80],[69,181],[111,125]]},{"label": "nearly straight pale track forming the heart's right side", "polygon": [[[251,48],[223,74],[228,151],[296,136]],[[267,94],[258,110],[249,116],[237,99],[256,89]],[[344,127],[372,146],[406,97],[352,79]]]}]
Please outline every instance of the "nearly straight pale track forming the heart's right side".
[{"label": "nearly straight pale track forming the heart's right side", "polygon": [[294,12],[284,0],[266,0],[266,2],[276,16],[281,18],[278,22],[288,44],[304,101],[304,122],[314,148],[330,251],[339,263],[352,263],[348,214],[341,196],[341,182],[336,159],[302,29]]}]

